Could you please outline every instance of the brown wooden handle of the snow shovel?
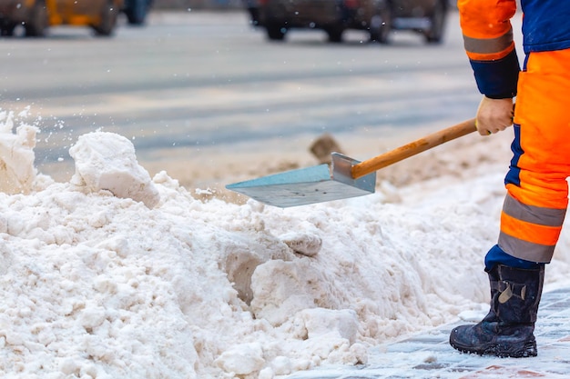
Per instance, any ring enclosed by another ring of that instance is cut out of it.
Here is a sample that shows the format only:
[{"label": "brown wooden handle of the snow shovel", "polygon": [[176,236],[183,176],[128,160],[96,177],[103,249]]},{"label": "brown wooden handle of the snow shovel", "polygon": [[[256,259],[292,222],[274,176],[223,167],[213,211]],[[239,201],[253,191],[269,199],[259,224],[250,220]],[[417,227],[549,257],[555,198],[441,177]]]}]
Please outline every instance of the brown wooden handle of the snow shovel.
[{"label": "brown wooden handle of the snow shovel", "polygon": [[442,145],[448,141],[452,141],[455,138],[462,137],[463,135],[469,135],[477,130],[475,126],[475,119],[463,121],[461,124],[453,125],[439,132],[435,132],[431,135],[426,135],[419,140],[413,141],[407,145],[400,146],[388,153],[382,155],[377,155],[366,161],[362,161],[360,164],[353,165],[351,168],[351,174],[353,179],[358,179],[361,176],[368,175],[374,171],[380,170],[386,166],[400,162],[406,158],[422,153],[432,147]]}]

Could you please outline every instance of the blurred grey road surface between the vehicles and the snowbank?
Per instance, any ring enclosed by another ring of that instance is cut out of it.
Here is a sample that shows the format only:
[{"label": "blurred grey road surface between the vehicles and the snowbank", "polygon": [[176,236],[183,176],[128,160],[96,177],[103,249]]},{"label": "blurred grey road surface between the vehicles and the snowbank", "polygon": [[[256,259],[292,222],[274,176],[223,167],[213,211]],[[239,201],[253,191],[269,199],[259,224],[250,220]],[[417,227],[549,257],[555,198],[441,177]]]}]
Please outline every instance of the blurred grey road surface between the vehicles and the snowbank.
[{"label": "blurred grey road surface between the vehicles and the snowbank", "polygon": [[0,108],[28,107],[15,124],[41,129],[36,162],[49,175],[69,175],[70,145],[103,130],[131,139],[149,171],[205,165],[190,170],[202,181],[219,180],[215,167],[239,148],[259,161],[264,148],[295,155],[322,133],[364,144],[473,116],[479,95],[456,13],[441,45],[411,32],[390,45],[366,40],[293,30],[269,42],[235,11],[154,13],[112,38],[58,27],[45,39],[0,39]]}]

